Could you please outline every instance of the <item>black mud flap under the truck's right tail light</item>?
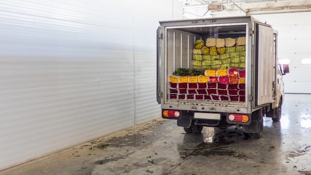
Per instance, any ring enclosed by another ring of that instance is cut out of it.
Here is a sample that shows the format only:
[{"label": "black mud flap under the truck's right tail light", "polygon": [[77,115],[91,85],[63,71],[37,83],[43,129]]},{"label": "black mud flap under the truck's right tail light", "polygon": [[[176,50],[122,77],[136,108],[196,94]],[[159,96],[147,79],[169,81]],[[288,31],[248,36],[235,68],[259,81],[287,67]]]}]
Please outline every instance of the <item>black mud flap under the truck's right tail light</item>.
[{"label": "black mud flap under the truck's right tail light", "polygon": [[243,125],[243,131],[246,133],[260,133],[262,131],[262,108],[251,114],[251,123]]}]

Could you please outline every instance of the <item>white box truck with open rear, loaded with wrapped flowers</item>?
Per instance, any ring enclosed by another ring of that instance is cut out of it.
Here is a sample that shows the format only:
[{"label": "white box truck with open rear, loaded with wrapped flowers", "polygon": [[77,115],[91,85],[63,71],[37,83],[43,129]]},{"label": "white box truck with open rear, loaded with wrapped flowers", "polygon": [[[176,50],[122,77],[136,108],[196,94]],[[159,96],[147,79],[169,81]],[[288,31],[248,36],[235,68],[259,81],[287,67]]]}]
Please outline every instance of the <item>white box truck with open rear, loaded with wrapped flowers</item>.
[{"label": "white box truck with open rear, loaded with wrapped flowers", "polygon": [[160,21],[157,102],[162,118],[187,133],[243,128],[260,138],[263,117],[277,122],[284,100],[278,33],[252,16]]}]

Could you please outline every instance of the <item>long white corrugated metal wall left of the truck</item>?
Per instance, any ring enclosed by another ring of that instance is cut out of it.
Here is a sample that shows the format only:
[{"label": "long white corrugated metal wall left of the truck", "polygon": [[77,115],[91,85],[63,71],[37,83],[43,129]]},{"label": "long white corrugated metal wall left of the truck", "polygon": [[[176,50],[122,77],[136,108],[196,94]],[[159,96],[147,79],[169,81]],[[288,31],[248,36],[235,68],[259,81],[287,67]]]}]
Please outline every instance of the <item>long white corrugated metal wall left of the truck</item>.
[{"label": "long white corrugated metal wall left of the truck", "polygon": [[157,21],[180,7],[0,0],[0,170],[160,117]]}]

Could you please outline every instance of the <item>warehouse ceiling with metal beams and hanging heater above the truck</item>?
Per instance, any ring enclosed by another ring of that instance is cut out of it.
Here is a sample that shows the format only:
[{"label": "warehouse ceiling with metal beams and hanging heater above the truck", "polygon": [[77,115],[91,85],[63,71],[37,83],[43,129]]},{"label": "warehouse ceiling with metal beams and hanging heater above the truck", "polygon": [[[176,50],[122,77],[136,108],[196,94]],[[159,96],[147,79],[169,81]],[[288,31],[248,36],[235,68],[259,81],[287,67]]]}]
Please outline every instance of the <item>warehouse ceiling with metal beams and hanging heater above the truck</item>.
[{"label": "warehouse ceiling with metal beams and hanging heater above the truck", "polygon": [[234,12],[252,15],[311,11],[311,0],[182,0],[182,2],[184,13],[198,17]]}]

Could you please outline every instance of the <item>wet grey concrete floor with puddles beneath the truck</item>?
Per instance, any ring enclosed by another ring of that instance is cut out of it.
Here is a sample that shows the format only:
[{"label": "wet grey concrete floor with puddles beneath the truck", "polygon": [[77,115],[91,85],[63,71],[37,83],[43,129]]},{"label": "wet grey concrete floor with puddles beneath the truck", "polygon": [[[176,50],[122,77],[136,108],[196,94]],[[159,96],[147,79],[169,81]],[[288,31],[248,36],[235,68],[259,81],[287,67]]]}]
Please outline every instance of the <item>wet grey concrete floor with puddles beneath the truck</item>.
[{"label": "wet grey concrete floor with puddles beneath the truck", "polygon": [[311,175],[311,94],[286,94],[261,139],[242,128],[186,134],[158,119],[16,166],[1,175]]}]

